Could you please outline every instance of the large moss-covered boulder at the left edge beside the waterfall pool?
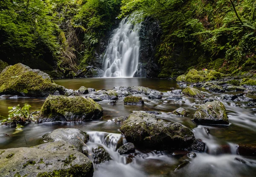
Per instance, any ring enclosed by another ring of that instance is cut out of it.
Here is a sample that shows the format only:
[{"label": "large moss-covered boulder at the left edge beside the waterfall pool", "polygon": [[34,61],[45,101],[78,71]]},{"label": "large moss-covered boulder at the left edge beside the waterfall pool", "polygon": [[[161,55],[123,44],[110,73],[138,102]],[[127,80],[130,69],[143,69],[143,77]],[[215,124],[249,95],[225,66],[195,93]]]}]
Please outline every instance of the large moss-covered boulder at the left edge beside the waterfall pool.
[{"label": "large moss-covered boulder at the left edge beside the waterfall pool", "polygon": [[0,74],[0,95],[47,97],[56,91],[64,95],[65,88],[55,84],[48,74],[24,64],[6,67]]}]

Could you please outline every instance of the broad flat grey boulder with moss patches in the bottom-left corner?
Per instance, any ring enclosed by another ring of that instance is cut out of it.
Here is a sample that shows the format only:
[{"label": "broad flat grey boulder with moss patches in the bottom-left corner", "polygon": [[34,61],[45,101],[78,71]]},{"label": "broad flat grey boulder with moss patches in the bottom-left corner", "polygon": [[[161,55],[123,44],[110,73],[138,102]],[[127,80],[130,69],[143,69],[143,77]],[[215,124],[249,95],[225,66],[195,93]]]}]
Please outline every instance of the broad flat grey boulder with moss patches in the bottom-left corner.
[{"label": "broad flat grey boulder with moss patches in the bottom-left corner", "polygon": [[[1,177],[92,177],[92,162],[79,151],[38,148],[3,149]],[[9,157],[9,158],[7,158]]]}]

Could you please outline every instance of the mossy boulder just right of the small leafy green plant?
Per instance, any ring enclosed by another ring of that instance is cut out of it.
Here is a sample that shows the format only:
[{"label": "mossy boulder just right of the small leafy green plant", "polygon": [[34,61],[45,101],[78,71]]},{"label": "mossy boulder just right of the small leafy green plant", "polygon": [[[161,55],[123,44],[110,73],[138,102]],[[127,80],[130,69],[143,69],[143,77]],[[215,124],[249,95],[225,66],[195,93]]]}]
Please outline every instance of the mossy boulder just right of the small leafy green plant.
[{"label": "mossy boulder just right of the small leafy green plant", "polygon": [[102,107],[90,98],[50,95],[41,107],[38,119],[39,122],[72,122],[98,119],[102,113]]}]

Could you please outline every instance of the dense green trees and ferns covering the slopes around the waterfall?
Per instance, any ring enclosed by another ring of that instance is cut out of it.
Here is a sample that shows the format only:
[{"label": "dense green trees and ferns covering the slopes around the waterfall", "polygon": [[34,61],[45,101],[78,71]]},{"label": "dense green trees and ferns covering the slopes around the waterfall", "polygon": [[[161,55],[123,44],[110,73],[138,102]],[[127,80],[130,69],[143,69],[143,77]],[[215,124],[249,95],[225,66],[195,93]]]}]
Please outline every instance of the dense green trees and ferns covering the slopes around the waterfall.
[{"label": "dense green trees and ferns covering the slopes around the waterfall", "polygon": [[131,13],[160,23],[159,77],[256,66],[255,0],[1,0],[1,59],[72,77],[93,62],[116,17]]}]

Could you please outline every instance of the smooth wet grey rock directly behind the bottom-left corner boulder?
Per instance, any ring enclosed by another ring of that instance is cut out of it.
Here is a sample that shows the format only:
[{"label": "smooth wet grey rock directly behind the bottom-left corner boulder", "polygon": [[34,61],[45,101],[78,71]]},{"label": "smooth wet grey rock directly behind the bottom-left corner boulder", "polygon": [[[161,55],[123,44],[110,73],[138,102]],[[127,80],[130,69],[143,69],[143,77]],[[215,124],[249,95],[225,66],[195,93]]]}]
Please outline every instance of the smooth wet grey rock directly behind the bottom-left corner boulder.
[{"label": "smooth wet grey rock directly behind the bottom-left corner boulder", "polygon": [[73,145],[77,151],[84,152],[84,143],[89,140],[87,133],[76,128],[58,128],[43,136],[44,142],[64,141]]}]

